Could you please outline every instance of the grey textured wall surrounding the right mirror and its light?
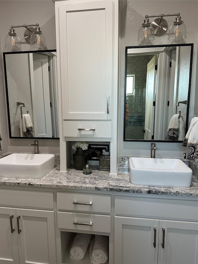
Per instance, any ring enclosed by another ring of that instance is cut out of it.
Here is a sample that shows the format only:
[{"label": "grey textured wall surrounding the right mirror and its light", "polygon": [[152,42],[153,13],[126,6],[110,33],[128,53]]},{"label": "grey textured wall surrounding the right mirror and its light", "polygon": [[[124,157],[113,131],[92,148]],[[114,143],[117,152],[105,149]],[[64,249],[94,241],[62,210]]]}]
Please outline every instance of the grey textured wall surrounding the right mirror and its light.
[{"label": "grey textured wall surrounding the right mirror and its light", "polygon": [[[197,8],[198,1],[178,0],[128,0],[127,9],[121,13],[121,42],[120,42],[120,98],[119,98],[119,156],[150,156],[150,142],[123,141],[124,120],[124,73],[125,73],[125,46],[139,46],[137,34],[145,15],[170,14],[180,12],[187,28],[187,38],[183,43],[194,43],[193,71],[190,99],[190,120],[194,113],[195,87],[196,87],[196,61],[197,61]],[[154,19],[153,19],[154,20]],[[152,18],[150,21],[153,21]],[[174,22],[174,16],[166,17],[168,27]],[[153,45],[174,44],[168,40],[168,32],[156,36]],[[181,143],[157,142],[157,157],[183,157],[185,147]]]}]

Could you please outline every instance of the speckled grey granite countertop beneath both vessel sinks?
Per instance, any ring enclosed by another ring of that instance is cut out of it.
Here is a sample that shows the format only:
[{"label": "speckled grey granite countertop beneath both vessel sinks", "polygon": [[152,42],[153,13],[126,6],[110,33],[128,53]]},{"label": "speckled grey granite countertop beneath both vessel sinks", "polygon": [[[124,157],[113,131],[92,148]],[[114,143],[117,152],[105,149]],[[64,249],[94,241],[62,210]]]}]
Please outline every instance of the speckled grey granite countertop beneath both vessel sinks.
[{"label": "speckled grey granite countertop beneath both vessel sinks", "polygon": [[74,168],[67,173],[60,173],[56,165],[52,171],[41,179],[0,178],[0,185],[33,186],[45,188],[64,188],[81,190],[113,191],[124,193],[144,193],[174,196],[198,196],[198,180],[192,176],[188,188],[156,187],[131,184],[126,167],[120,167],[118,176],[110,176],[108,171],[93,170],[91,175],[84,175]]}]

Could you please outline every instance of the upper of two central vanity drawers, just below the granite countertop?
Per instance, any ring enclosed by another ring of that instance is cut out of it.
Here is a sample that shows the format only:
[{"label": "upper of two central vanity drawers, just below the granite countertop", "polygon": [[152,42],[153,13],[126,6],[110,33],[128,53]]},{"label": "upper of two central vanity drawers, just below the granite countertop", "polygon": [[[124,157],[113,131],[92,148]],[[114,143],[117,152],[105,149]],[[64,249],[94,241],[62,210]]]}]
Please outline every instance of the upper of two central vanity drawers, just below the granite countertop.
[{"label": "upper of two central vanity drawers, just below the granite countertop", "polygon": [[[76,203],[75,203],[76,202]],[[84,203],[84,204],[78,204]],[[88,193],[57,193],[57,208],[87,212],[111,212],[111,196]]]}]

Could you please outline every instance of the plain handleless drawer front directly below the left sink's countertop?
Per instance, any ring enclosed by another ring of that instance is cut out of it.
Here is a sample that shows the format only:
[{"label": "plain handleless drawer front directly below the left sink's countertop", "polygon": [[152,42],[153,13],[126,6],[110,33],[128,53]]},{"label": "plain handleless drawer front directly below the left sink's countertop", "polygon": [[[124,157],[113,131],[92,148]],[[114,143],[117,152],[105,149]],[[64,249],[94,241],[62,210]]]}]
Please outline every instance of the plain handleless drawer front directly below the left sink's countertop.
[{"label": "plain handleless drawer front directly below the left sink's countertop", "polygon": [[0,203],[10,206],[54,208],[52,192],[0,189]]}]

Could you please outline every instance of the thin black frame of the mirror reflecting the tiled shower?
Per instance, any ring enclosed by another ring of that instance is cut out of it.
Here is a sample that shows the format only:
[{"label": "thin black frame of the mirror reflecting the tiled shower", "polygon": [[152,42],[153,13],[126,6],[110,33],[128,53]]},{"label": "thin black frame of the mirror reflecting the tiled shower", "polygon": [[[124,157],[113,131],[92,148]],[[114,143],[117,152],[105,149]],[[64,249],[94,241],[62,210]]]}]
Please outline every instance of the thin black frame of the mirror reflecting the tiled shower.
[{"label": "thin black frame of the mirror reflecting the tiled shower", "polygon": [[[127,84],[127,50],[128,49],[136,49],[136,48],[156,48],[156,47],[171,47],[171,46],[190,46],[191,47],[191,55],[190,55],[190,69],[189,69],[189,82],[188,82],[188,99],[187,99],[187,112],[186,112],[186,124],[188,124],[188,118],[189,118],[189,106],[190,106],[190,91],[191,91],[191,78],[192,78],[192,57],[193,57],[193,43],[185,43],[185,44],[165,44],[165,45],[145,45],[145,46],[126,46],[125,47],[125,76],[124,76],[124,106],[126,105],[126,84]],[[147,139],[125,139],[125,122],[126,122],[126,115],[125,115],[125,109],[124,107],[124,135],[123,135],[123,141],[136,141],[136,142],[169,142],[169,143],[178,143],[183,141],[174,141],[174,140],[147,140]],[[185,129],[185,135],[188,131],[188,125],[186,125]]]}]

